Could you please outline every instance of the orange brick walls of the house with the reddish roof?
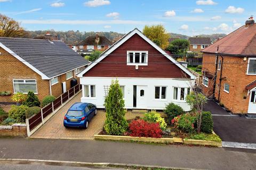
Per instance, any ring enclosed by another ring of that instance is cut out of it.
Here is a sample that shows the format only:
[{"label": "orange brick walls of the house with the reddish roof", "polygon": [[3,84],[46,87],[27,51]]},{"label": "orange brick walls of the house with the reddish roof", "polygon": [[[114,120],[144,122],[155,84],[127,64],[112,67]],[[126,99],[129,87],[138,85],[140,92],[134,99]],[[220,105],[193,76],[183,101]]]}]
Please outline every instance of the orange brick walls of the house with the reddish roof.
[{"label": "orange brick walls of the house with the reddish roof", "polygon": [[[246,75],[247,62],[248,58],[243,61],[243,57],[223,56],[221,84],[221,71],[217,70],[215,97],[218,99],[220,96],[220,102],[233,113],[248,111],[250,95],[247,95],[245,87],[256,79],[256,75]],[[203,70],[214,74],[215,55],[203,55]],[[224,91],[225,83],[229,84],[229,93]]]}]

